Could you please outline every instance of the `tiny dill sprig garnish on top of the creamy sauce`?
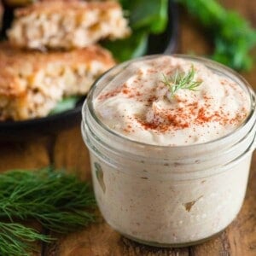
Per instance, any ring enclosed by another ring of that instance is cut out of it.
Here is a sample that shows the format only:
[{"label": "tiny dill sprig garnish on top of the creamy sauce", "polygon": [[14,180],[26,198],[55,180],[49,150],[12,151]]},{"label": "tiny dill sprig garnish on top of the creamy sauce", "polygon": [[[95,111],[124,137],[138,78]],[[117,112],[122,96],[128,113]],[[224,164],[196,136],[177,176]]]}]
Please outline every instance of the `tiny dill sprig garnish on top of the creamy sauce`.
[{"label": "tiny dill sprig garnish on top of the creamy sauce", "polygon": [[177,90],[188,89],[188,90],[197,90],[198,86],[201,84],[201,81],[195,81],[195,68],[192,65],[188,73],[184,73],[181,70],[177,70],[175,75],[171,78],[166,78],[163,74],[163,83],[166,84],[168,89],[171,92],[171,98],[177,92]]}]

